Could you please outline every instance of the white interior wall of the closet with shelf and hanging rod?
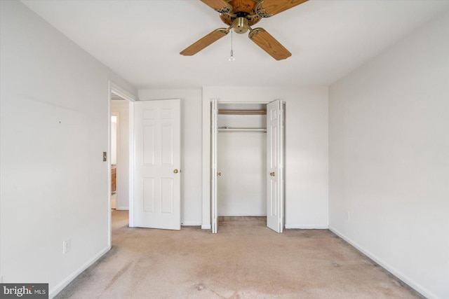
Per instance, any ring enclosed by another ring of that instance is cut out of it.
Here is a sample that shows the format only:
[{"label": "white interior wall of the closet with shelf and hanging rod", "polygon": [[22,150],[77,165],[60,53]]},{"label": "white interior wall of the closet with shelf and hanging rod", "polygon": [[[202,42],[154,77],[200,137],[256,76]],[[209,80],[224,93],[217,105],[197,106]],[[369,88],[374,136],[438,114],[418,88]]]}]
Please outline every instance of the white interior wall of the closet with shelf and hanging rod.
[{"label": "white interior wall of the closet with shelf and hanging rod", "polygon": [[218,216],[267,215],[267,115],[264,106],[236,109],[218,104]]}]

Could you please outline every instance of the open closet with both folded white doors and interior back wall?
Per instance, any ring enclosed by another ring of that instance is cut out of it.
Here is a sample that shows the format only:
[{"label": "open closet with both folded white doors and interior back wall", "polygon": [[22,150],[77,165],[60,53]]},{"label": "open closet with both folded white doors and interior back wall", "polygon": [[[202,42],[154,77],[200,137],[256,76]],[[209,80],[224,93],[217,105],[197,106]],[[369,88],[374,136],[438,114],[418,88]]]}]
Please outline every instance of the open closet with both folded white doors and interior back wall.
[{"label": "open closet with both folded white doors and interior back wall", "polygon": [[283,230],[283,103],[211,102],[212,232],[220,216],[267,216]]}]

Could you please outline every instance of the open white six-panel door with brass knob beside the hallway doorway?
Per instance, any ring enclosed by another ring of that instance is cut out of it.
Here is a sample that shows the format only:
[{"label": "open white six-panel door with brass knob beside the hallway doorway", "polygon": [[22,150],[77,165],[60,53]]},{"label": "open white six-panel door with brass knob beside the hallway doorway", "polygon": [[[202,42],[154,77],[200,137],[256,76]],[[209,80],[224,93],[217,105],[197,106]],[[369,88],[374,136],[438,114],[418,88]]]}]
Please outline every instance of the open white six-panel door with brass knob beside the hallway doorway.
[{"label": "open white six-panel door with brass knob beside the hallway doorway", "polygon": [[180,230],[180,99],[134,104],[134,226]]}]

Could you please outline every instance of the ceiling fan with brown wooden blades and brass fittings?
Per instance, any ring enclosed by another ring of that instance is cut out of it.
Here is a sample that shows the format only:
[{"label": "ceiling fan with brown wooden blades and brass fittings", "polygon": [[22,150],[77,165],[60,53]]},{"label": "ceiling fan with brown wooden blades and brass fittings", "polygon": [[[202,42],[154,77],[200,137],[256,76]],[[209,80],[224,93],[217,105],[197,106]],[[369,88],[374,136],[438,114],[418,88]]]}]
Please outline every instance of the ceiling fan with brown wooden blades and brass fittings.
[{"label": "ceiling fan with brown wooden blades and brass fittings", "polygon": [[308,0],[201,0],[210,8],[220,13],[220,19],[229,27],[215,29],[202,39],[180,52],[181,55],[192,56],[206,48],[211,43],[227,35],[231,29],[238,34],[248,30],[248,37],[257,46],[271,55],[275,60],[284,60],[292,54],[276,41],[274,37],[263,28],[251,28],[262,18],[269,18]]}]

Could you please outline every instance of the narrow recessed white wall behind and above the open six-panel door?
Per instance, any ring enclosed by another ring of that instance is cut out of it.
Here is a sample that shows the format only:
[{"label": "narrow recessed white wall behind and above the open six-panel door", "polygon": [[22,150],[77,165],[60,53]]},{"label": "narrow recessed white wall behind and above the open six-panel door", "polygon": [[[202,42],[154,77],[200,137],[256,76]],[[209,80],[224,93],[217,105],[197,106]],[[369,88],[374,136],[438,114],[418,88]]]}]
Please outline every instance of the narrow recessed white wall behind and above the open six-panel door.
[{"label": "narrow recessed white wall behind and above the open six-panel door", "polygon": [[139,98],[181,99],[181,224],[201,225],[201,90],[139,90]]}]

